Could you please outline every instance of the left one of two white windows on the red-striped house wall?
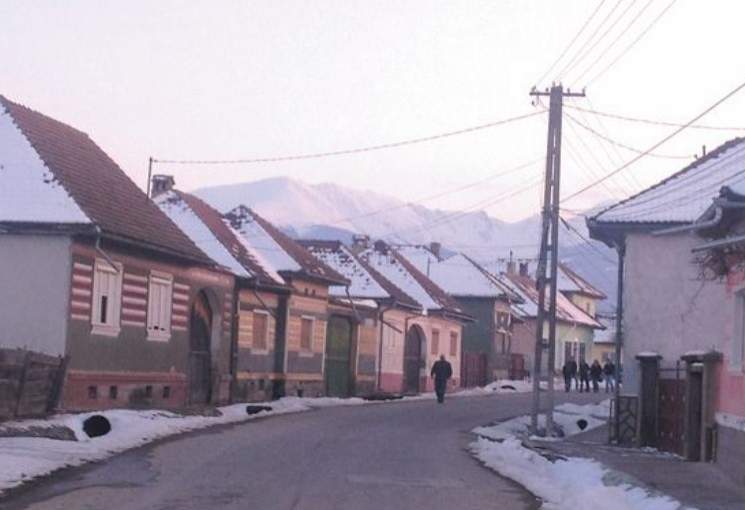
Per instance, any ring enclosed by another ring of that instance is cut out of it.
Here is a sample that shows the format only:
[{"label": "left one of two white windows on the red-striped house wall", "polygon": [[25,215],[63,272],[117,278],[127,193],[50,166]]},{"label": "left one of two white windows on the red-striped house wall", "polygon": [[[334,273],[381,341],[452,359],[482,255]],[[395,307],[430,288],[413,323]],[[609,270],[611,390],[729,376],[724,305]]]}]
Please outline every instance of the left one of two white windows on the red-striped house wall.
[{"label": "left one of two white windows on the red-striped house wall", "polygon": [[119,334],[119,314],[122,296],[122,265],[111,265],[96,259],[93,275],[92,332],[100,335]]}]

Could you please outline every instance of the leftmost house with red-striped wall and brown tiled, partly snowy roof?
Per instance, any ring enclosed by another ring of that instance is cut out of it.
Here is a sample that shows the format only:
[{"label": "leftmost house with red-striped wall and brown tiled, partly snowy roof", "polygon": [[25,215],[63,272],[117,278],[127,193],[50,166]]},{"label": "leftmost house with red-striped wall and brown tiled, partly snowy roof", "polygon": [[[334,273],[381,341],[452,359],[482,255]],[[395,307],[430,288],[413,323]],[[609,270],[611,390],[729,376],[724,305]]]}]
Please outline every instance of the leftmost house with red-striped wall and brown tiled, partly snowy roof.
[{"label": "leftmost house with red-striped wall and brown tiled, partly snowy roof", "polygon": [[0,96],[0,346],[69,358],[62,405],[224,402],[232,275],[85,133]]}]

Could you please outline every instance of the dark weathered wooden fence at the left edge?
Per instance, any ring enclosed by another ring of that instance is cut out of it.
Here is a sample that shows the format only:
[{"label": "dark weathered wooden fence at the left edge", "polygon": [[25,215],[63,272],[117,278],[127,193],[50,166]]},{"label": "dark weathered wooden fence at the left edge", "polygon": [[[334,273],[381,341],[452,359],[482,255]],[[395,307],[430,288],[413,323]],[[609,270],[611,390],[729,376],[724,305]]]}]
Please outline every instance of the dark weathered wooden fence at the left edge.
[{"label": "dark weathered wooden fence at the left edge", "polygon": [[59,404],[68,358],[0,349],[0,420],[42,417]]}]

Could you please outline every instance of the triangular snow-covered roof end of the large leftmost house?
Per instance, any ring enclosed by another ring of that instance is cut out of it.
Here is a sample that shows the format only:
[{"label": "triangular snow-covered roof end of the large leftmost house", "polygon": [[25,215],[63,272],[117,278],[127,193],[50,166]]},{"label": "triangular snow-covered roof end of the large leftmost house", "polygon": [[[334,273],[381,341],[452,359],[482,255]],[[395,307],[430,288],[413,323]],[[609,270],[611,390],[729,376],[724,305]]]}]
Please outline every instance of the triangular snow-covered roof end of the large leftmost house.
[{"label": "triangular snow-covered roof end of the large leftmost house", "polygon": [[0,221],[90,224],[0,102]]}]

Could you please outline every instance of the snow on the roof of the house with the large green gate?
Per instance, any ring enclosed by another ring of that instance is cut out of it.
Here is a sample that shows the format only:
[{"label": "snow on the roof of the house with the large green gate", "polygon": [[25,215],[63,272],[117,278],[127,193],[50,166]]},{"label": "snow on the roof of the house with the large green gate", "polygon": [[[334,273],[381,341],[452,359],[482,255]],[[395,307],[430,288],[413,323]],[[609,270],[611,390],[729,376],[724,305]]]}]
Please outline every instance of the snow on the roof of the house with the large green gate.
[{"label": "snow on the roof of the house with the large green gate", "polygon": [[[375,280],[354,254],[337,241],[305,241],[301,243],[314,256],[349,280],[349,295],[362,299],[386,299],[391,295]],[[333,296],[346,296],[341,285],[329,288]]]}]

